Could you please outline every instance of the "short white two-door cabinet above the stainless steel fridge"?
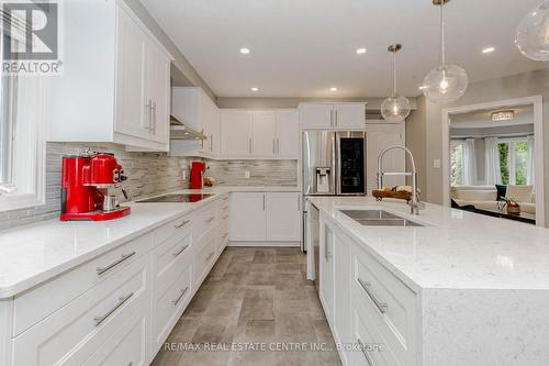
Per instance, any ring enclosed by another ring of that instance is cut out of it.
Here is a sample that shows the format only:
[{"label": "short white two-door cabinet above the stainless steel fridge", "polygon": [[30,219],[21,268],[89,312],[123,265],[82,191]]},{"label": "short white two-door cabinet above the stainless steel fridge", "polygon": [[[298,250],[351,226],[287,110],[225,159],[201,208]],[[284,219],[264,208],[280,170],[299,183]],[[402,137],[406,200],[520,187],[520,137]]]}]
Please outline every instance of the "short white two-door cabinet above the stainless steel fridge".
[{"label": "short white two-door cabinet above the stainless steel fridge", "polygon": [[365,103],[301,103],[303,130],[361,131],[366,122]]}]

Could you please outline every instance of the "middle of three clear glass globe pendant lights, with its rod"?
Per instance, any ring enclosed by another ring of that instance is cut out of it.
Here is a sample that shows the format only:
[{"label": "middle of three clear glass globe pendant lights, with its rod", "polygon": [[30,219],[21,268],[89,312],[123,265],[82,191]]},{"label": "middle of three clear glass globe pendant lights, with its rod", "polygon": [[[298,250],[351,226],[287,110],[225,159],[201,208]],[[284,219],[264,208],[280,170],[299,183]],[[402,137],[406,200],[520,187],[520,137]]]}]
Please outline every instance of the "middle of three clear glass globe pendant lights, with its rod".
[{"label": "middle of three clear glass globe pendant lights, with its rod", "polygon": [[440,5],[440,66],[427,74],[423,81],[423,93],[437,104],[451,103],[464,95],[469,78],[464,69],[458,65],[446,64],[445,49],[445,13],[444,5],[450,0],[433,0]]}]

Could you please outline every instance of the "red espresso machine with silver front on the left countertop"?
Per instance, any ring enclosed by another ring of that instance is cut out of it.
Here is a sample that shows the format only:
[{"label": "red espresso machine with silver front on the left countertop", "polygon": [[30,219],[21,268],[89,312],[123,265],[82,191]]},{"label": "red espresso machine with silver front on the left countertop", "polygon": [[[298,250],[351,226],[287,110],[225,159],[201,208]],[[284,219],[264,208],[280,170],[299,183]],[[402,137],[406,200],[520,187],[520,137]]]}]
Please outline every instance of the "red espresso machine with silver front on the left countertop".
[{"label": "red espresso machine with silver front on the left countertop", "polygon": [[124,170],[112,154],[85,153],[63,157],[61,221],[103,221],[130,214],[120,207],[112,189],[122,189]]}]

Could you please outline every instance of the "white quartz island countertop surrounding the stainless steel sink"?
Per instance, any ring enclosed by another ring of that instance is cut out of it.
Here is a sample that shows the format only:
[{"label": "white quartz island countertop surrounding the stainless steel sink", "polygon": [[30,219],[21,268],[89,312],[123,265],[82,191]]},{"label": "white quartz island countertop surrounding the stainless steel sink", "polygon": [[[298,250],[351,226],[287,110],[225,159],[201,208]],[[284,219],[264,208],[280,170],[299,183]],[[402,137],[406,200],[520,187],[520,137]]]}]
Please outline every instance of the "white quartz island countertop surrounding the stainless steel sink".
[{"label": "white quartz island countertop surrounding the stainless steel sink", "polygon": [[[438,204],[427,203],[419,215],[412,217],[403,201],[309,200],[416,290],[549,289],[548,229]],[[340,212],[379,208],[426,226],[363,226]]]}]

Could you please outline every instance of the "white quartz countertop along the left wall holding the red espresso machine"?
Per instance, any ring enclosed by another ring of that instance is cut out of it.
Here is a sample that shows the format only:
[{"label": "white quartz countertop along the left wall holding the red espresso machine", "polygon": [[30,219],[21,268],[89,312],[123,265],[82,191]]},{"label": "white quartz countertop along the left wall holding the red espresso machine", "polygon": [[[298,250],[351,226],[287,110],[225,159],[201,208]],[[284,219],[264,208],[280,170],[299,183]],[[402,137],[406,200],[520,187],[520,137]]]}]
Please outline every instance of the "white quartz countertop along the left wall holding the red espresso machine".
[{"label": "white quartz countertop along the left wall holding the red espresso machine", "polygon": [[[120,244],[197,210],[231,191],[299,191],[296,187],[214,187],[181,192],[215,193],[195,203],[134,203],[111,221],[44,221],[0,231],[0,299],[23,292]],[[161,195],[159,195],[161,196]]]}]

